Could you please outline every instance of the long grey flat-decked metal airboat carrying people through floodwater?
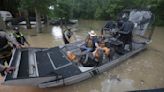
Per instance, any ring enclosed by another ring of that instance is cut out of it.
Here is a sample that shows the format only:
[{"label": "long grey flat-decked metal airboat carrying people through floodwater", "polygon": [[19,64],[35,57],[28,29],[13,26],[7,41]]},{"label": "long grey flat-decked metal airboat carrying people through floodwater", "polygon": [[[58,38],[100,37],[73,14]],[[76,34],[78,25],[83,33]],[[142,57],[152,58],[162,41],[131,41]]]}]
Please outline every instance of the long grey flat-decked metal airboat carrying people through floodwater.
[{"label": "long grey flat-decked metal airboat carrying people through floodwater", "polygon": [[[147,23],[150,24],[150,22]],[[139,32],[141,30],[136,28],[135,31]],[[150,35],[152,36],[152,34]],[[151,42],[151,39],[143,35],[140,35],[140,37],[142,40],[133,39],[131,50],[123,50],[122,53],[119,53],[119,50],[115,47],[122,42],[114,37],[104,36],[106,45],[117,50],[114,50],[110,58],[103,57],[101,63],[95,66],[79,65],[67,58],[67,52],[71,51],[79,58],[87,61],[87,52],[80,49],[84,41],[53,48],[15,49],[9,66],[16,67],[16,69],[13,73],[5,76],[3,84],[46,88],[71,85],[92,78],[143,51]]]}]

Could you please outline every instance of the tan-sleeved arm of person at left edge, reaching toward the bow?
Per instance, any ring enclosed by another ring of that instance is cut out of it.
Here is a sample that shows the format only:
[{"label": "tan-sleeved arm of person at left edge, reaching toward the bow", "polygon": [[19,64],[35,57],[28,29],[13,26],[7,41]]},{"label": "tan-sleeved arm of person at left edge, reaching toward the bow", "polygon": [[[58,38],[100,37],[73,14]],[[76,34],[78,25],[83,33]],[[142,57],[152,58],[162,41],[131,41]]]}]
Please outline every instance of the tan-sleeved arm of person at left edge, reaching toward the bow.
[{"label": "tan-sleeved arm of person at left edge, reaching toward the bow", "polygon": [[0,32],[1,37],[5,37],[8,41],[10,41],[12,44],[16,45],[17,48],[20,48],[20,44],[16,41],[16,39],[5,32]]}]

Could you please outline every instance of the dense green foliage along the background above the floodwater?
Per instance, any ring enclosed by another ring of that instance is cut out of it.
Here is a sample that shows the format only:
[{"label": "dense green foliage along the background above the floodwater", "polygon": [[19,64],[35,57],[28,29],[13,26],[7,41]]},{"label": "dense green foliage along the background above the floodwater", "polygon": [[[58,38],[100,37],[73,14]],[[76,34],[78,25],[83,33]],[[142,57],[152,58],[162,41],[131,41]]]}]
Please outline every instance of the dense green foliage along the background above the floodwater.
[{"label": "dense green foliage along the background above the floodwater", "polygon": [[[21,0],[21,9],[37,10],[55,18],[111,19],[127,8],[146,8],[156,15],[156,20],[163,23],[164,0]],[[54,10],[49,10],[54,6]],[[161,20],[162,19],[162,20]]]}]

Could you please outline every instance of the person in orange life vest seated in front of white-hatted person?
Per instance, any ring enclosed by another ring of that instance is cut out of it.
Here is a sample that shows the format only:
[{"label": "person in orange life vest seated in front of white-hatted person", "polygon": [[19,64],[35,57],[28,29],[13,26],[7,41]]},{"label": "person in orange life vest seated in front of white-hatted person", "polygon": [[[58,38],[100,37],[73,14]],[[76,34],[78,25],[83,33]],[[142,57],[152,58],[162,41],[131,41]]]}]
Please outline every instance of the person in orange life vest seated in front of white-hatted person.
[{"label": "person in orange life vest seated in front of white-hatted person", "polygon": [[98,47],[93,51],[83,55],[80,63],[86,67],[99,66],[106,61],[109,61],[110,49],[105,46],[103,40],[98,42]]}]

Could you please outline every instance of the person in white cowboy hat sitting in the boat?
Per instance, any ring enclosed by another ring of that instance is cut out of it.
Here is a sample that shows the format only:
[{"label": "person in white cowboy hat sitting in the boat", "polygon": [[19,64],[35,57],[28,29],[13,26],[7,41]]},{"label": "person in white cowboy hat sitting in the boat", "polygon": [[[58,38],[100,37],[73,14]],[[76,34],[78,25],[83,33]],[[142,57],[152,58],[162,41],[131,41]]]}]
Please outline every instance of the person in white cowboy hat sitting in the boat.
[{"label": "person in white cowboy hat sitting in the boat", "polygon": [[88,36],[85,39],[84,45],[80,47],[82,51],[93,52],[98,47],[97,36],[94,30],[88,32]]}]

